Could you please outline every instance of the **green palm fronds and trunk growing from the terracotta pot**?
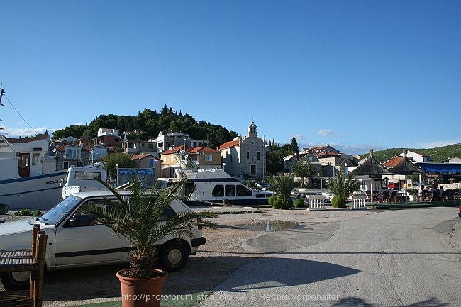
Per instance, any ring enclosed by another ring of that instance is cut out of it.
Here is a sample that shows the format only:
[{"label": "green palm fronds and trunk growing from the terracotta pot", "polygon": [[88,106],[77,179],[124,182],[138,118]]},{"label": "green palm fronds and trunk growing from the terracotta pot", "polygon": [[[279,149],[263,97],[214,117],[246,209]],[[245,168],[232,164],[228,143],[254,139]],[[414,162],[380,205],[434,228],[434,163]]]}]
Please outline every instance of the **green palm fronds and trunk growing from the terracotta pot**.
[{"label": "green palm fronds and trunk growing from the terracotta pot", "polygon": [[194,226],[215,228],[216,223],[201,218],[216,217],[210,211],[187,211],[178,216],[164,216],[164,211],[172,201],[177,199],[179,189],[184,181],[177,182],[169,188],[158,191],[152,189],[146,193],[143,182],[134,177],[130,197],[121,194],[109,184],[105,184],[118,202],[107,200],[109,210],[101,206],[93,206],[88,213],[93,214],[97,221],[109,226],[118,235],[127,238],[135,250],[131,253],[131,267],[122,274],[133,278],[152,278],[157,276],[157,241],[167,235],[193,235]]}]

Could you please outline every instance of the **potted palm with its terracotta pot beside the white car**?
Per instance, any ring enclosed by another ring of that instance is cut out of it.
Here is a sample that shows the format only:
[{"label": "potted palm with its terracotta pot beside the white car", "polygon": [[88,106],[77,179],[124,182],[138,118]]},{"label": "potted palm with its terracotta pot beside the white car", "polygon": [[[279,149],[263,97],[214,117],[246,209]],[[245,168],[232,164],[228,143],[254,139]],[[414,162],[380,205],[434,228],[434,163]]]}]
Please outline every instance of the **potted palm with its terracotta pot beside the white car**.
[{"label": "potted palm with its terracotta pot beside the white car", "polygon": [[109,184],[100,182],[116,196],[117,201],[108,199],[109,207],[93,206],[88,213],[133,245],[130,268],[116,274],[121,281],[122,306],[160,306],[162,284],[167,272],[157,266],[157,241],[167,236],[191,237],[196,226],[215,228],[216,223],[202,218],[216,215],[210,211],[187,211],[172,217],[163,214],[177,199],[177,192],[184,181],[162,191],[154,188],[146,193],[143,182],[134,177],[128,198]]}]

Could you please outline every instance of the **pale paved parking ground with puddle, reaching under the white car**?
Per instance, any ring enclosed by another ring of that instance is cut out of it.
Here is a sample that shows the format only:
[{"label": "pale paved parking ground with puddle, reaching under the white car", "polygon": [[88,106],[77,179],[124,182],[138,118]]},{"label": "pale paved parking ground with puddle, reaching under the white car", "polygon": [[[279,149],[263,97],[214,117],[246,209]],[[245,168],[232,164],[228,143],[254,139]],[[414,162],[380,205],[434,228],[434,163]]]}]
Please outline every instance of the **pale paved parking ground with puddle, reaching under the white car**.
[{"label": "pale paved parking ground with puddle, reaching under the white car", "polygon": [[[231,273],[261,254],[328,240],[340,221],[377,212],[333,208],[326,211],[242,207],[211,210],[219,214],[217,230],[204,230],[206,245],[189,257],[181,272],[169,275],[164,293],[184,294],[214,289]],[[291,223],[282,223],[286,221]],[[274,227],[287,228],[270,231],[271,226],[272,230]],[[104,266],[48,272],[44,306],[119,300],[120,283],[115,273],[121,268],[123,266]]]}]

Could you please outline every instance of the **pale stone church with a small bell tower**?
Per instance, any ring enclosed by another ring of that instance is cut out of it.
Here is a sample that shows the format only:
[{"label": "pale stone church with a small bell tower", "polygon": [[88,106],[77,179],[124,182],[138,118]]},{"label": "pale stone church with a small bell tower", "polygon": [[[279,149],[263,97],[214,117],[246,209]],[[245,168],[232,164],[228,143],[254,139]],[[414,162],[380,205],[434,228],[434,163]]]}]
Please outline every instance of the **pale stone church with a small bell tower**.
[{"label": "pale stone church with a small bell tower", "polygon": [[265,177],[266,140],[257,136],[255,122],[248,126],[245,137],[235,138],[219,146],[223,169],[234,177]]}]

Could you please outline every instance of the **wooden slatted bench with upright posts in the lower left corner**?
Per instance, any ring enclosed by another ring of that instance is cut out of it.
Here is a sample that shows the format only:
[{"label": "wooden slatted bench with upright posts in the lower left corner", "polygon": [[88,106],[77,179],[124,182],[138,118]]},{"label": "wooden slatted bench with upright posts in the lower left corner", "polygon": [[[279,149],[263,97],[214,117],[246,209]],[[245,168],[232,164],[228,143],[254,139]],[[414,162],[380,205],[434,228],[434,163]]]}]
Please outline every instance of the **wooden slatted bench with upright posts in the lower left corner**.
[{"label": "wooden slatted bench with upright posts in the lower left corner", "polygon": [[36,224],[32,230],[30,250],[0,250],[0,272],[30,271],[28,291],[0,291],[0,306],[41,307],[43,303],[43,274],[45,273],[47,235]]}]

